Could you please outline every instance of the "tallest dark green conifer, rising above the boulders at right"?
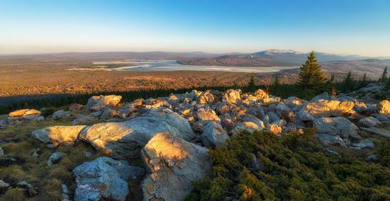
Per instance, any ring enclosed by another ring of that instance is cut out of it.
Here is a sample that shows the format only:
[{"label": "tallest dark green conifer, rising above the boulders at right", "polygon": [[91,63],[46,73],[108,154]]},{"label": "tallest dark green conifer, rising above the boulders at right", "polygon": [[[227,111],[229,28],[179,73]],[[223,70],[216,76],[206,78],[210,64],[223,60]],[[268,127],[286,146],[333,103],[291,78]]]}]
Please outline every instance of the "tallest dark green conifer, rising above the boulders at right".
[{"label": "tallest dark green conifer, rising above the boulders at right", "polygon": [[316,55],[314,52],[310,52],[299,73],[299,86],[301,86],[303,90],[308,89],[321,92],[325,90],[326,83],[326,77],[323,74],[323,71],[321,71],[321,66],[318,65]]}]

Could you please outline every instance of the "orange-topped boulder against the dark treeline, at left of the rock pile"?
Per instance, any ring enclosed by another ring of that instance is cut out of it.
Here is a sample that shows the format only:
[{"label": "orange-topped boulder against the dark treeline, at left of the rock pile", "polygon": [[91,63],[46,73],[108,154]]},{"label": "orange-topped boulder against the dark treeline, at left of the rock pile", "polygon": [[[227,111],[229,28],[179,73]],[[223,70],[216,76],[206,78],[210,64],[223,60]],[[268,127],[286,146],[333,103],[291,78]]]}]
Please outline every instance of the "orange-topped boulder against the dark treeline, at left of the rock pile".
[{"label": "orange-topped boulder against the dark treeline, at left of the rock pile", "polygon": [[89,98],[87,108],[91,111],[100,111],[105,108],[113,108],[121,102],[122,96],[92,96]]}]

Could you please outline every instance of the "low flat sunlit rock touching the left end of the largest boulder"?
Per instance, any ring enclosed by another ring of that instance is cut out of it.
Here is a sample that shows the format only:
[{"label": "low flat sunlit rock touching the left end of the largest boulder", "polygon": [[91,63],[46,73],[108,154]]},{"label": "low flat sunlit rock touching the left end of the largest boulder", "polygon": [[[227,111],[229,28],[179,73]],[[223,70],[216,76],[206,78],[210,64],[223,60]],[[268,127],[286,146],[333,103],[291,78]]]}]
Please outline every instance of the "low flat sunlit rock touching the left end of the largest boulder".
[{"label": "low flat sunlit rock touching the left end of the largest boulder", "polygon": [[76,142],[79,133],[86,128],[85,125],[78,126],[53,126],[45,127],[40,130],[34,130],[32,132],[36,139],[41,142],[52,143],[52,144],[69,144],[72,145]]}]

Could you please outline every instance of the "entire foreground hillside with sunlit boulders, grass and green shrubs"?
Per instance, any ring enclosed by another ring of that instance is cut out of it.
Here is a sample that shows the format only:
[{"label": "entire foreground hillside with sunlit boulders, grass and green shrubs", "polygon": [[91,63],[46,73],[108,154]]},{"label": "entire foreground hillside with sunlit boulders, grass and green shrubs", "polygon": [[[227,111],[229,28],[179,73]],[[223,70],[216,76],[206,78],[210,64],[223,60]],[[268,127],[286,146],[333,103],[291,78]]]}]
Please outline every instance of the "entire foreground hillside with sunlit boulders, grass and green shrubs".
[{"label": "entire foreground hillside with sunlit boulders, grass and green shrubs", "polygon": [[372,88],[13,111],[0,118],[0,200],[389,200],[390,101],[367,99]]}]

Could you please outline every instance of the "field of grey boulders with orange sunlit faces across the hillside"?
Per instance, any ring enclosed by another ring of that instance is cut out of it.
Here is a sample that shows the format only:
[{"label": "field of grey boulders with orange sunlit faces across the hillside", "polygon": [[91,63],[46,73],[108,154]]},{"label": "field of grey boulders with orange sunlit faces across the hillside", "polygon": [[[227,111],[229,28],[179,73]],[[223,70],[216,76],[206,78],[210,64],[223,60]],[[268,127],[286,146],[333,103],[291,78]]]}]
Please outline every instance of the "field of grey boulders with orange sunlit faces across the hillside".
[{"label": "field of grey boulders with orange sunlit faces across the hillside", "polygon": [[[74,104],[69,111],[59,110],[47,117],[71,118],[73,126],[32,132],[53,147],[83,141],[106,154],[73,170],[77,184],[73,200],[126,200],[128,180],[142,180],[143,200],[184,200],[192,190],[191,183],[211,171],[208,148],[222,146],[241,132],[283,136],[316,127],[323,146],[345,149],[375,146],[360,132],[390,137],[384,126],[390,123],[390,101],[386,100],[363,103],[353,96],[323,93],[306,101],[279,98],[262,89],[254,93],[229,89],[120,101],[121,96],[93,96],[87,105]],[[84,115],[74,114],[79,110],[85,111]],[[44,118],[38,110],[17,110],[9,113],[0,127],[24,120]],[[83,125],[86,120],[104,122]],[[48,164],[60,156],[57,153]],[[142,159],[144,165],[130,166],[128,161],[133,159]]]}]

